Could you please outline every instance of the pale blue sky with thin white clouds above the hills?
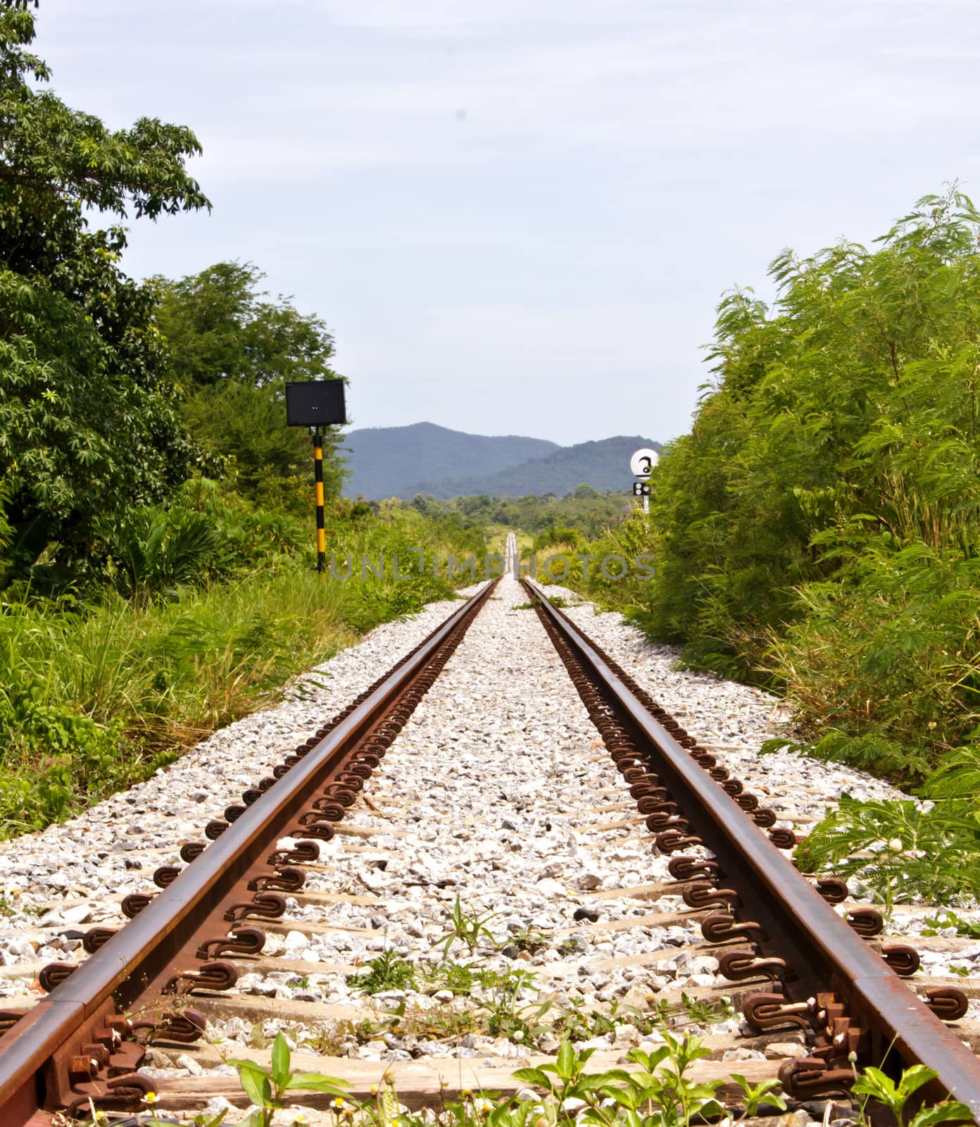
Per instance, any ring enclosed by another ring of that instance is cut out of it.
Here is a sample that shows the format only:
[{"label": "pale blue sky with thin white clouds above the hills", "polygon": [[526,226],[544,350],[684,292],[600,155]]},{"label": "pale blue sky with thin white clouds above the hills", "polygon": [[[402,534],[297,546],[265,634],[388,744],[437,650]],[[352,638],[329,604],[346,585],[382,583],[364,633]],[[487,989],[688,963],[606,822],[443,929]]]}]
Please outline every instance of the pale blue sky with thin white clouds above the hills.
[{"label": "pale blue sky with thin white clouds above the hills", "polygon": [[208,215],[126,268],[253,261],[356,426],[687,429],[701,346],[785,246],[980,197],[977,0],[42,0],[69,105],[189,125]]}]

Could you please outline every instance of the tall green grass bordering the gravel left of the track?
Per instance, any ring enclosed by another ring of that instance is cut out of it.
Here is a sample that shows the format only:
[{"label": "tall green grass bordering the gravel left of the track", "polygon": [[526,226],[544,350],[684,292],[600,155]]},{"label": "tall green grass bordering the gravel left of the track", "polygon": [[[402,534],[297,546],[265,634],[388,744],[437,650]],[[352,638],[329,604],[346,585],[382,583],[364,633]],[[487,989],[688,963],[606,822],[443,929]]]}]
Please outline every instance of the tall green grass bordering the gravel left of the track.
[{"label": "tall green grass bordering the gravel left of the track", "polygon": [[[109,589],[93,605],[0,602],[0,836],[146,778],[365,630],[453,597],[433,577],[433,554],[470,547],[404,511],[335,539],[358,561],[347,582],[317,575],[309,556],[274,556],[169,601]],[[395,583],[392,553],[416,544],[426,549],[425,573]],[[360,578],[362,553],[386,557],[384,579]]]}]

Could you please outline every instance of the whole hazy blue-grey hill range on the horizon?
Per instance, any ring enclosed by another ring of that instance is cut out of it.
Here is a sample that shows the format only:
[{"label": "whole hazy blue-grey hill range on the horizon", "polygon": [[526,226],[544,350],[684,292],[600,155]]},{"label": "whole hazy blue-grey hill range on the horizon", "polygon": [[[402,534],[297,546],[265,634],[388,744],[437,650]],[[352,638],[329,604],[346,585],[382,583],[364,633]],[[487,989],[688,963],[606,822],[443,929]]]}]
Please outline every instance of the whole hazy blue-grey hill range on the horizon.
[{"label": "whole hazy blue-grey hill range on the horizon", "polygon": [[351,476],[345,491],[375,499],[410,499],[419,492],[435,497],[553,492],[561,497],[582,482],[625,491],[632,480],[633,451],[660,449],[659,443],[640,436],[559,446],[518,435],[465,434],[433,423],[351,431],[346,445]]}]

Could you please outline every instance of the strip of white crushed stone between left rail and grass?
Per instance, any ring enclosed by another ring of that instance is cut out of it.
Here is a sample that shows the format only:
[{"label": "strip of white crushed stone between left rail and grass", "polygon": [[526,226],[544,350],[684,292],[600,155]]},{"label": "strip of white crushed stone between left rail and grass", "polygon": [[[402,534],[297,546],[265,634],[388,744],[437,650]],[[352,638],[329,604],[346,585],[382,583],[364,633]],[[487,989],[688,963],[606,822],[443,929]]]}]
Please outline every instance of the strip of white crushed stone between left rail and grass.
[{"label": "strip of white crushed stone between left rail and grass", "polygon": [[[124,922],[123,897],[153,890],[149,877],[159,866],[182,863],[175,843],[204,840],[207,822],[239,804],[243,790],[460,605],[430,603],[418,614],[376,627],[356,646],[297,677],[274,708],[215,731],[145,782],[39,833],[0,842],[0,894],[12,909],[0,916],[0,967],[26,956],[28,941],[18,931]],[[153,851],[159,855],[148,858]],[[78,938],[68,939],[37,957],[64,958],[79,948]]]}]

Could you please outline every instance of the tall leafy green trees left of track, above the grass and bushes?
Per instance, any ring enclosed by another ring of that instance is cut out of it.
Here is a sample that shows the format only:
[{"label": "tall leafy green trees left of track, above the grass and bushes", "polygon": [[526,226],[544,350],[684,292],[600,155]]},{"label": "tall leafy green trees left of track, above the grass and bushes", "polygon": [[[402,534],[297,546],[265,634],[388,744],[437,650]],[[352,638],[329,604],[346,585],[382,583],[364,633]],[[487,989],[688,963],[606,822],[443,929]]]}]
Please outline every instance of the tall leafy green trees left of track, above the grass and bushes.
[{"label": "tall leafy green trees left of track, above the grass and bushes", "polygon": [[[336,373],[324,322],[270,299],[250,264],[126,276],[124,220],[210,210],[186,167],[201,147],[184,126],[110,131],[62,103],[30,51],[34,7],[0,0],[0,589],[38,594],[122,566],[121,527],[159,527],[195,478],[305,516],[309,437],[284,426],[284,384]],[[118,222],[95,230],[92,211]],[[187,524],[171,531],[189,544]]]}]

